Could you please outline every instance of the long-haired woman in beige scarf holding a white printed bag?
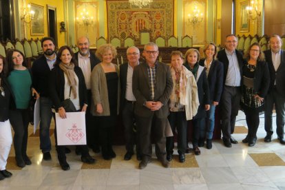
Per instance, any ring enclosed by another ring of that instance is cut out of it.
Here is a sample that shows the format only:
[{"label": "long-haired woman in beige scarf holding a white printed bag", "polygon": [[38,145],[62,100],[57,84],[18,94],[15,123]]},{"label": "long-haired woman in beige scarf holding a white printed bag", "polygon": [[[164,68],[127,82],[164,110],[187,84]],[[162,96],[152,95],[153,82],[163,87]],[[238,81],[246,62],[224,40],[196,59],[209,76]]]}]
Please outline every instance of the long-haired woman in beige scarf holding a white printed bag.
[{"label": "long-haired woman in beige scarf holding a white printed bag", "polygon": [[[70,98],[77,112],[86,112],[88,105],[85,79],[74,58],[74,52],[67,45],[59,49],[49,81],[50,98],[61,118],[66,118],[65,108],[61,103],[67,98]],[[89,155],[87,145],[78,146],[82,149],[81,161],[87,164],[94,163],[95,160]],[[57,138],[56,151],[61,169],[69,170],[70,165],[66,162],[65,147],[57,145]]]}]

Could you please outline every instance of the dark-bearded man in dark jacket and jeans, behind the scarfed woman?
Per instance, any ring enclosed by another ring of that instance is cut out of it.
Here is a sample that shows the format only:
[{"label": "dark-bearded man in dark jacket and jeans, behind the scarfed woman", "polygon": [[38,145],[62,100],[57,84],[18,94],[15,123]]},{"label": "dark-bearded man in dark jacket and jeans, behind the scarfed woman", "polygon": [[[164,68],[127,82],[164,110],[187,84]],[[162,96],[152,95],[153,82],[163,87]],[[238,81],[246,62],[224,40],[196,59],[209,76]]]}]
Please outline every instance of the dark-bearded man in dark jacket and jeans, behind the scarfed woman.
[{"label": "dark-bearded man in dark jacket and jeans, behind the scarfed woman", "polygon": [[52,120],[52,100],[48,92],[48,77],[56,61],[54,52],[55,43],[52,37],[44,37],[41,40],[43,56],[40,56],[32,64],[32,83],[34,89],[39,92],[40,100],[40,149],[43,152],[43,160],[51,160],[50,156],[50,122]]}]

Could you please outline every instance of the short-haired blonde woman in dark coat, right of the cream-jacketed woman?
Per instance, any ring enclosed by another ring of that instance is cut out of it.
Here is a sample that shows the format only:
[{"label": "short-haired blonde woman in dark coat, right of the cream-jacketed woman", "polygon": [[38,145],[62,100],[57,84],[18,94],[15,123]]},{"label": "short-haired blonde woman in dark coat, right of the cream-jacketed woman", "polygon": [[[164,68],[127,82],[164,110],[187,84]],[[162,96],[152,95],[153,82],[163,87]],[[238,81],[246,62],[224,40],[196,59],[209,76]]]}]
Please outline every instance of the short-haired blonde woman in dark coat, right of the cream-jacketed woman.
[{"label": "short-haired blonde woman in dark coat, right of the cream-jacketed woman", "polygon": [[190,70],[196,78],[198,87],[199,107],[198,113],[193,118],[193,151],[194,154],[200,155],[200,149],[198,147],[199,139],[204,139],[204,122],[206,118],[206,111],[210,109],[210,95],[209,95],[209,84],[207,80],[207,74],[204,67],[199,65],[200,53],[196,49],[189,49],[185,53],[185,64],[184,66]]}]

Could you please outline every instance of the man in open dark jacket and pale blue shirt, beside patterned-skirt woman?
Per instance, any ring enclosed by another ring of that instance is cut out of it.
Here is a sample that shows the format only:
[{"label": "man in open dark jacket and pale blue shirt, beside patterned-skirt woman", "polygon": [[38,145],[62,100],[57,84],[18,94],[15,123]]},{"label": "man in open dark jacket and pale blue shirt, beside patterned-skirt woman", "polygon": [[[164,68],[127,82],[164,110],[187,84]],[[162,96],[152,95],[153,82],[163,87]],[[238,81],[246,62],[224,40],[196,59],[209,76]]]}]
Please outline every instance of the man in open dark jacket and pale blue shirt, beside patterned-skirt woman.
[{"label": "man in open dark jacket and pale blue shirt, beside patterned-skirt woman", "polygon": [[237,47],[237,37],[233,34],[226,36],[226,48],[218,52],[218,60],[224,65],[224,87],[221,97],[222,110],[222,140],[224,146],[231,147],[237,140],[231,136],[235,129],[235,118],[240,107],[242,66],[244,61]]}]

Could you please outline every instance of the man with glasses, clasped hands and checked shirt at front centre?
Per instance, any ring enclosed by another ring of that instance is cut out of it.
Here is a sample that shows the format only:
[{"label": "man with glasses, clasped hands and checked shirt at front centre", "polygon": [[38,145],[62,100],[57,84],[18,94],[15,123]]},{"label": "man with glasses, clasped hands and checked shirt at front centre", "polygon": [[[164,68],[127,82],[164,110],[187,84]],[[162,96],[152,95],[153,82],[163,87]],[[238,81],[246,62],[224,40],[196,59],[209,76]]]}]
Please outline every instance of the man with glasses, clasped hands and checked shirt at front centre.
[{"label": "man with glasses, clasped hands and checked shirt at front centre", "polygon": [[169,66],[156,61],[158,46],[148,43],[143,50],[145,62],[134,68],[133,93],[136,97],[135,114],[144,169],[151,160],[151,132],[154,133],[156,156],[163,167],[169,167],[166,159],[165,127],[169,114],[169,96],[173,83]]}]

